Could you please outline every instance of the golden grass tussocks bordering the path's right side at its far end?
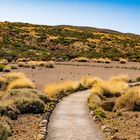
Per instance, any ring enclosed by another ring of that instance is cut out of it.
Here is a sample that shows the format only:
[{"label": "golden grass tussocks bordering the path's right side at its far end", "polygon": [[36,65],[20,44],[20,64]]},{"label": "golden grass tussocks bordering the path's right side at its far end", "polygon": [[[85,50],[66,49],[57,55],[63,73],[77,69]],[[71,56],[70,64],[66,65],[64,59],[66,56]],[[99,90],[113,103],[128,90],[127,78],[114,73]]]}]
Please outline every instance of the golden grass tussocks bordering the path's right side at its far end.
[{"label": "golden grass tussocks bordering the path's right side at its far end", "polygon": [[120,75],[112,77],[108,81],[100,79],[93,84],[88,105],[98,119],[107,117],[105,111],[114,110],[115,100],[123,96],[124,91],[129,89],[128,79],[128,76]]}]

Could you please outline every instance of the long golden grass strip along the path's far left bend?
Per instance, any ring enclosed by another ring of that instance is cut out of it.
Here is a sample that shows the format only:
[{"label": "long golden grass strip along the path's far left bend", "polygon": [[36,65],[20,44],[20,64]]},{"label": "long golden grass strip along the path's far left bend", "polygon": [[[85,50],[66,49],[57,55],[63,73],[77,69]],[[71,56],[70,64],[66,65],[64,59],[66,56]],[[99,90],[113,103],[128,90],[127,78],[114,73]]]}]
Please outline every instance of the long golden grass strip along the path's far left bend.
[{"label": "long golden grass strip along the path's far left bend", "polygon": [[98,81],[101,81],[101,79],[97,77],[83,78],[80,81],[75,81],[75,82],[66,81],[59,84],[47,85],[43,91],[45,94],[49,95],[52,98],[58,98],[58,97],[61,98],[72,92],[91,88],[92,85],[94,85]]}]

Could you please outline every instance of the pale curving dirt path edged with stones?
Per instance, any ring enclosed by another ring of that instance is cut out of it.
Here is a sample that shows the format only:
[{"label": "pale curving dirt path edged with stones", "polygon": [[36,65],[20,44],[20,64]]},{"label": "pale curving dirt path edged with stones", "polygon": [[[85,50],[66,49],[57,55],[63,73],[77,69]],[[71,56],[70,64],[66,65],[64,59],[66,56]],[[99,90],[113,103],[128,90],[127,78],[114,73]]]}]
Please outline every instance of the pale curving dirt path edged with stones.
[{"label": "pale curving dirt path edged with stones", "polygon": [[48,126],[47,140],[103,140],[89,115],[88,91],[65,97],[54,110]]}]

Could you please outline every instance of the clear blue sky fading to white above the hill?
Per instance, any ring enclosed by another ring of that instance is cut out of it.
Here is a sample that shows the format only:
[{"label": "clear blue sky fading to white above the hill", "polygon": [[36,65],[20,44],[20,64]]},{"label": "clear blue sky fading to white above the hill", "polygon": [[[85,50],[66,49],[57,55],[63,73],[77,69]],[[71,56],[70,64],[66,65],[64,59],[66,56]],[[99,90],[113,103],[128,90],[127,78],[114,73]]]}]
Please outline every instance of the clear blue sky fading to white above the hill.
[{"label": "clear blue sky fading to white above the hill", "polygon": [[0,0],[0,21],[140,34],[140,0]]}]

